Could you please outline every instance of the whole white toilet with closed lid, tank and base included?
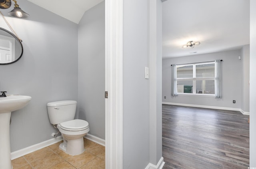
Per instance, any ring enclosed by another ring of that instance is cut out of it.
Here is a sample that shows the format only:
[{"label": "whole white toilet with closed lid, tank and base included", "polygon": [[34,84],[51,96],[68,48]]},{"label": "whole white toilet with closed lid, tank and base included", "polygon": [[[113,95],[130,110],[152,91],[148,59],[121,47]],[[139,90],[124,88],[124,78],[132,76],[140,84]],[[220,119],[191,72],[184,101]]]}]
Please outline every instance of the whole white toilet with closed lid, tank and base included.
[{"label": "whole white toilet with closed lid, tank and base included", "polygon": [[69,155],[79,155],[84,152],[83,137],[90,131],[85,120],[74,119],[77,101],[63,100],[47,103],[50,123],[57,126],[63,137],[60,149]]}]

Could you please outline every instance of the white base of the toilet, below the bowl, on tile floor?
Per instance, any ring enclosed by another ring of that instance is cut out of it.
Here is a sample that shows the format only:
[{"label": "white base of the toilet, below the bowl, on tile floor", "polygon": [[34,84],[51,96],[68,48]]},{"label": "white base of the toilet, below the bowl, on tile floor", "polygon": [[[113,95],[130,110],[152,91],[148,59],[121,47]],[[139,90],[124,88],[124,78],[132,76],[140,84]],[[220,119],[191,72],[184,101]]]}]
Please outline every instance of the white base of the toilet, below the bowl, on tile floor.
[{"label": "white base of the toilet, below the bowl, on tile floor", "polygon": [[65,139],[63,137],[63,143],[60,143],[59,148],[69,155],[80,155],[84,153],[84,139],[83,137],[78,139]]}]

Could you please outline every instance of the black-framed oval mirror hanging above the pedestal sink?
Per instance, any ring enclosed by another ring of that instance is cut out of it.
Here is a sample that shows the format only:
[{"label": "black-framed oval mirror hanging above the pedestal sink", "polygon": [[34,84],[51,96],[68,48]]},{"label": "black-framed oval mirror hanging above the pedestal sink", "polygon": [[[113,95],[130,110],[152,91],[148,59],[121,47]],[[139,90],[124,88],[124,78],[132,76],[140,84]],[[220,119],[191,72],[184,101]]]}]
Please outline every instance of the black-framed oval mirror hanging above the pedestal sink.
[{"label": "black-framed oval mirror hanging above the pedestal sink", "polygon": [[23,46],[17,36],[0,27],[0,65],[17,62],[22,54]]}]

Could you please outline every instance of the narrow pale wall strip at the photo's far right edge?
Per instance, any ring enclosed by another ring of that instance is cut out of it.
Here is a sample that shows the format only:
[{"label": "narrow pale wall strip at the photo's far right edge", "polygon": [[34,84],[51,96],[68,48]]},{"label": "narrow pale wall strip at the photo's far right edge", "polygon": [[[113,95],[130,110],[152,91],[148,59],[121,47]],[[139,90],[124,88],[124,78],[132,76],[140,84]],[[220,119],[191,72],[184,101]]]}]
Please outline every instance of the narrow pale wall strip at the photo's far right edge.
[{"label": "narrow pale wall strip at the photo's far right edge", "polygon": [[250,0],[250,167],[256,167],[256,1]]}]

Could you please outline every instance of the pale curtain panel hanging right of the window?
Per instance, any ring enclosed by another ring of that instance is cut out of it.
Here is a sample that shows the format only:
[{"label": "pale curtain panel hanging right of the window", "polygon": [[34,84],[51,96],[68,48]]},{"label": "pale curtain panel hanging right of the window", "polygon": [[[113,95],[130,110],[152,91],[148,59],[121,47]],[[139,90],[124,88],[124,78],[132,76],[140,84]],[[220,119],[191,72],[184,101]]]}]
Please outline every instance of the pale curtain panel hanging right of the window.
[{"label": "pale curtain panel hanging right of the window", "polygon": [[222,87],[221,87],[221,61],[215,60],[215,98],[222,97]]}]

